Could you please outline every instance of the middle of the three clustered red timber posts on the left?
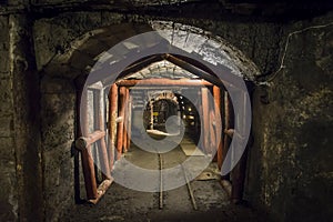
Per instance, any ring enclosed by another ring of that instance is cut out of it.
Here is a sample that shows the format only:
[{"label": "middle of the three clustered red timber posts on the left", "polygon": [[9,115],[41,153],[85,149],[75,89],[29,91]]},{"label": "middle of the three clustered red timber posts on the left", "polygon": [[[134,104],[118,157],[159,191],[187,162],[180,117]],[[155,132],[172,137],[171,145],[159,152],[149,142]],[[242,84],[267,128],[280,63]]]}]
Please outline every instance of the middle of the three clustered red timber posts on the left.
[{"label": "middle of the three clustered red timber posts on the left", "polygon": [[122,120],[118,123],[117,128],[117,160],[121,158],[122,149],[123,149],[123,124],[124,124],[124,101],[125,101],[125,87],[119,88],[119,111],[118,115],[122,118]]}]

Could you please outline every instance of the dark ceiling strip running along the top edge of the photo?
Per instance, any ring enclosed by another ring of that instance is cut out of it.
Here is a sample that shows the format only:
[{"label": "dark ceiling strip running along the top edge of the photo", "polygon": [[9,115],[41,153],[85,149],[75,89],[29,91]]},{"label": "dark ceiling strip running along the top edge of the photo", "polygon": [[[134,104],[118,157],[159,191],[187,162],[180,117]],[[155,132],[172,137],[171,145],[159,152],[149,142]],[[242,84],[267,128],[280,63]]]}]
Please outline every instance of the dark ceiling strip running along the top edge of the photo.
[{"label": "dark ceiling strip running along the top edge of the photo", "polygon": [[289,21],[320,16],[333,9],[330,0],[31,0],[27,9],[18,4],[18,1],[0,1],[0,13],[28,10],[36,17],[50,17],[64,11],[112,10],[171,17],[195,14],[196,18],[216,19],[238,16],[244,20],[251,17]]}]

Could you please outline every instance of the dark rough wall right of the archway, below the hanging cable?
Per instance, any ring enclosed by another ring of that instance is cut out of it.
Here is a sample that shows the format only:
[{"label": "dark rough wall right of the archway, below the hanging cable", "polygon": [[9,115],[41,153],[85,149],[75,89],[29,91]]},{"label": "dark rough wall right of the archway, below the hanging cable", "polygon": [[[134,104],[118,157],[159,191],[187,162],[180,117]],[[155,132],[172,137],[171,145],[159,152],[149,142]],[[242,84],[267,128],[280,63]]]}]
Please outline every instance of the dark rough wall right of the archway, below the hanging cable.
[{"label": "dark rough wall right of the archway, below the hanging cable", "polygon": [[[285,33],[330,22],[297,22]],[[333,218],[332,52],[332,23],[293,34],[285,68],[254,92],[246,193],[276,221]]]}]

